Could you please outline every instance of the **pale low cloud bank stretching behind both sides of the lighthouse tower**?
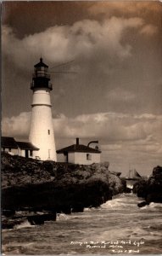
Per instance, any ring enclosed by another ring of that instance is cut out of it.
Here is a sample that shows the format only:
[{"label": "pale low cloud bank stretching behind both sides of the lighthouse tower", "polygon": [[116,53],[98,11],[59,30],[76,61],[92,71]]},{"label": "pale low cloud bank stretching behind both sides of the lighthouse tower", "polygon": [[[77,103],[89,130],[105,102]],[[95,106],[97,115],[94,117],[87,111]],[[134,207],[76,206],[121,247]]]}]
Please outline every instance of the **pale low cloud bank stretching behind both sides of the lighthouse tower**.
[{"label": "pale low cloud bank stretching behind both sides of the lighthouse tower", "polygon": [[[20,113],[17,117],[3,119],[3,134],[14,137],[28,137],[31,113]],[[154,137],[154,143],[162,140],[162,116],[149,114],[131,115],[124,113],[81,114],[68,118],[64,114],[53,119],[56,137],[98,138],[106,142],[148,143]],[[153,141],[152,141],[153,142]]]}]

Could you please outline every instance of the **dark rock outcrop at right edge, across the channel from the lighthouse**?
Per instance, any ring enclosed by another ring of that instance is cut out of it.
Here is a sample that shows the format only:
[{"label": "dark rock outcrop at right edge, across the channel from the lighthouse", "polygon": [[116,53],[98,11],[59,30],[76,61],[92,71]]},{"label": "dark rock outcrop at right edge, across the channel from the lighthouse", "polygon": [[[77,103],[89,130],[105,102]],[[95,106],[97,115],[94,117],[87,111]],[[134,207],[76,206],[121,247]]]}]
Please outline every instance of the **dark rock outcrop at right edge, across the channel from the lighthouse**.
[{"label": "dark rock outcrop at right edge, across the channel from the lighthouse", "polygon": [[140,181],[134,185],[133,192],[145,199],[146,203],[162,203],[162,167],[153,169],[153,174],[148,181]]}]

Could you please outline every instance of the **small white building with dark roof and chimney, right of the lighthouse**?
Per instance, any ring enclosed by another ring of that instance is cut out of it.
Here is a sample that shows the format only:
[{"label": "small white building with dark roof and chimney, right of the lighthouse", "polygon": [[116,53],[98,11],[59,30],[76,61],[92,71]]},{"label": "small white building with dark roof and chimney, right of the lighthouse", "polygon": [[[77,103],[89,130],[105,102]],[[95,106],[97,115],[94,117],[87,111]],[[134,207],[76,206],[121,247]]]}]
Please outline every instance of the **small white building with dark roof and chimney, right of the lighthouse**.
[{"label": "small white building with dark roof and chimney, right of the lighthouse", "polygon": [[[93,141],[90,143],[98,143],[98,141]],[[93,163],[100,163],[101,161],[101,151],[98,146],[95,148],[90,148],[89,144],[87,146],[79,143],[79,138],[76,138],[76,143],[57,150],[58,162],[67,162],[76,165],[91,165]]]}]

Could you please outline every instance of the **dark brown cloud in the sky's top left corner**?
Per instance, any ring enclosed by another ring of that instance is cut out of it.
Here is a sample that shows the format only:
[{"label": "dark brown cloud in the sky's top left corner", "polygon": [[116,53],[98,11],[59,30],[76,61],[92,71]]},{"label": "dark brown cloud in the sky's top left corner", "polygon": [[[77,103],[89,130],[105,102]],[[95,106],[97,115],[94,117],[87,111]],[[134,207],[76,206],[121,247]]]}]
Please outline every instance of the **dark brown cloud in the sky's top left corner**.
[{"label": "dark brown cloud in the sky's top left corner", "polygon": [[89,17],[92,3],[75,1],[3,2],[3,24],[12,26],[18,38],[42,32],[50,26],[72,25]]}]

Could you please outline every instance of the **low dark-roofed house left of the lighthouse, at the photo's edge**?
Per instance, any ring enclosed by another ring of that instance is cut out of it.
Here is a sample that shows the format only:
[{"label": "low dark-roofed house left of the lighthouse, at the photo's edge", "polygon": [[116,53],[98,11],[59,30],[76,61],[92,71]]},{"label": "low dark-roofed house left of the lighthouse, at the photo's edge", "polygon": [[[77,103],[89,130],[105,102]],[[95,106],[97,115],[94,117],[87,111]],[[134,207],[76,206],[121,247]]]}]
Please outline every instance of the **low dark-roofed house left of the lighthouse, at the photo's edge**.
[{"label": "low dark-roofed house left of the lighthouse, at the photo's edge", "polygon": [[31,143],[17,142],[14,137],[1,137],[1,150],[8,154],[33,158],[33,151],[37,151],[39,148]]}]

